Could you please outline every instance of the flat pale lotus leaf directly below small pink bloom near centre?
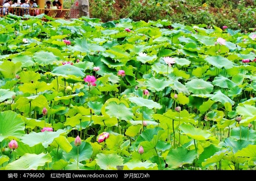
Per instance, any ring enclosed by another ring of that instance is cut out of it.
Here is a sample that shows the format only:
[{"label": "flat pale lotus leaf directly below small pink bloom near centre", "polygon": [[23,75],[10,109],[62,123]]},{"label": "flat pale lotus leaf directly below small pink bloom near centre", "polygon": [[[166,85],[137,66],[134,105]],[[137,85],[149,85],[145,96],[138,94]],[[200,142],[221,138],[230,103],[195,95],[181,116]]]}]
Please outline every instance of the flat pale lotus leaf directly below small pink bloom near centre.
[{"label": "flat pale lotus leaf directly below small pink bloom near centre", "polygon": [[154,102],[151,99],[144,99],[144,98],[141,98],[141,97],[129,97],[128,99],[132,103],[135,103],[136,105],[141,106],[141,107],[145,106],[148,109],[153,109],[153,108],[161,109],[162,108],[162,106],[159,103]]}]

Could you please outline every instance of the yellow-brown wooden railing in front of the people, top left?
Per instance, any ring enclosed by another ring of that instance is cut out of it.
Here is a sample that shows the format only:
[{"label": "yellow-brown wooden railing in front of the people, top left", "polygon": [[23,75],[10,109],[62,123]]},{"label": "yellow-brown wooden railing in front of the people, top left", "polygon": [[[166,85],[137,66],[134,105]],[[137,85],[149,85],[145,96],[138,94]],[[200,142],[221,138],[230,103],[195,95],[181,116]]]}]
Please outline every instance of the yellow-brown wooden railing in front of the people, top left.
[{"label": "yellow-brown wooden railing in front of the people, top left", "polygon": [[45,15],[53,17],[54,19],[57,19],[57,18],[64,19],[65,14],[69,10],[70,9],[45,9],[45,8],[23,8],[23,7],[0,6],[0,16],[5,16],[8,13],[12,13],[17,16],[23,16],[23,15],[37,16],[42,13],[45,13]]}]

